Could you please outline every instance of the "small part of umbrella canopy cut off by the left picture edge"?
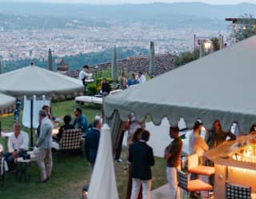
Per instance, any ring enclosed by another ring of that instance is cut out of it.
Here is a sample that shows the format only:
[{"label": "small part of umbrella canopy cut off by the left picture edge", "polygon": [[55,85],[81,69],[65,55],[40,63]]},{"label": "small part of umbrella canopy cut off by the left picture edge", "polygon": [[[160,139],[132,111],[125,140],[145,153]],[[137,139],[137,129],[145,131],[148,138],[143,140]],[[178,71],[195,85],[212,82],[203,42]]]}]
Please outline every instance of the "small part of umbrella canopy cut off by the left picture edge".
[{"label": "small part of umbrella canopy cut off by the left picture edge", "polygon": [[16,99],[5,94],[0,94],[0,114],[10,113],[15,107]]}]

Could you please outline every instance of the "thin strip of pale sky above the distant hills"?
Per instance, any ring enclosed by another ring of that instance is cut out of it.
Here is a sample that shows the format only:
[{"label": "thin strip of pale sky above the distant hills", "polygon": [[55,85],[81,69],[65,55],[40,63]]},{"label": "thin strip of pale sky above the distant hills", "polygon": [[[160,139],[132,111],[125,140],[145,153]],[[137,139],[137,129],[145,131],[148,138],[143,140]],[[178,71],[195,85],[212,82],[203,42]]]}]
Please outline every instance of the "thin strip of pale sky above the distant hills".
[{"label": "thin strip of pale sky above the distant hills", "polygon": [[150,2],[206,2],[210,4],[237,4],[241,2],[256,3],[256,0],[0,0],[0,2],[52,2],[52,3],[90,3],[90,4],[122,4]]}]

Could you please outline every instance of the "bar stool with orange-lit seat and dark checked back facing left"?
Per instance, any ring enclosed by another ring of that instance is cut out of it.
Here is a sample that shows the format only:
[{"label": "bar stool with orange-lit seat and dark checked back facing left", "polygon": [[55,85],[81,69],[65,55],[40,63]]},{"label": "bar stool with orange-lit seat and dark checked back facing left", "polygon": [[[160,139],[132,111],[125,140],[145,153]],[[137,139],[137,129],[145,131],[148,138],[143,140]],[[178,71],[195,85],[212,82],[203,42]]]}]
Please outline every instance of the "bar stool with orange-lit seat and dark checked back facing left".
[{"label": "bar stool with orange-lit seat and dark checked back facing left", "polygon": [[[200,191],[207,191],[208,196],[210,198],[210,191],[213,190],[213,187],[207,184],[204,181],[199,179],[197,180],[188,180],[188,174],[182,172],[182,170],[177,169],[177,178],[178,178],[178,187],[186,191],[186,197],[189,198],[191,192],[200,192]],[[184,195],[183,195],[184,197]]]}]

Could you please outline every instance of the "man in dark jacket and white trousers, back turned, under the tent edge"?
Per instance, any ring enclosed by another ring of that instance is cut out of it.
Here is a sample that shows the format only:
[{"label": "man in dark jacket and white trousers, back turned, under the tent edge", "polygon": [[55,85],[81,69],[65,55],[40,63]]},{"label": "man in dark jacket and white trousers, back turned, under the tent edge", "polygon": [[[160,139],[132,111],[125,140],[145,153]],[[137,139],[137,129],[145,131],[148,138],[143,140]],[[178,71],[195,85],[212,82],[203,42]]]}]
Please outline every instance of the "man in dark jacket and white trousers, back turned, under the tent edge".
[{"label": "man in dark jacket and white trousers, back turned, under the tent edge", "polygon": [[131,164],[132,193],[130,199],[138,198],[142,185],[142,198],[150,199],[152,173],[150,166],[154,165],[153,149],[146,144],[150,139],[150,132],[143,130],[142,138],[130,145],[129,161]]}]

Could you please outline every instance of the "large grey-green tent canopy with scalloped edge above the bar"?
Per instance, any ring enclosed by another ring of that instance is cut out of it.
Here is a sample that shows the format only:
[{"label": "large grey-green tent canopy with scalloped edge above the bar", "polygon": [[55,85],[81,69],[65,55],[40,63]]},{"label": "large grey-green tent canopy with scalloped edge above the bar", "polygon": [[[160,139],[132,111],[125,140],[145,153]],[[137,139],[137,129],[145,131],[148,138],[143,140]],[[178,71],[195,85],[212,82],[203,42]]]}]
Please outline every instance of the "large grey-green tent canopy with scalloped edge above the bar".
[{"label": "large grey-green tent canopy with scalloped edge above the bar", "polygon": [[238,121],[247,133],[256,122],[256,36],[179,67],[145,84],[105,99],[106,117],[115,110],[124,121],[134,113],[138,121],[150,115],[159,125],[167,117],[170,125],[183,117],[188,126],[200,117],[210,129],[213,121],[230,129]]}]

